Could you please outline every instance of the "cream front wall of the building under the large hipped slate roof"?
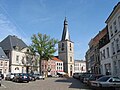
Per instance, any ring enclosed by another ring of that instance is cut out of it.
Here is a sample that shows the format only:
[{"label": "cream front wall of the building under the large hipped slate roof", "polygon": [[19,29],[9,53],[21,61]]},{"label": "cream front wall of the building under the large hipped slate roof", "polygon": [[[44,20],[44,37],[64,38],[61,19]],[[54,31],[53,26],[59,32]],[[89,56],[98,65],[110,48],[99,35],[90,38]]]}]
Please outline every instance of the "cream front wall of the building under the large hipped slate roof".
[{"label": "cream front wall of the building under the large hipped slate roof", "polygon": [[28,48],[24,48],[21,51],[13,50],[11,73],[26,73],[32,71],[32,57],[28,57],[26,52]]}]

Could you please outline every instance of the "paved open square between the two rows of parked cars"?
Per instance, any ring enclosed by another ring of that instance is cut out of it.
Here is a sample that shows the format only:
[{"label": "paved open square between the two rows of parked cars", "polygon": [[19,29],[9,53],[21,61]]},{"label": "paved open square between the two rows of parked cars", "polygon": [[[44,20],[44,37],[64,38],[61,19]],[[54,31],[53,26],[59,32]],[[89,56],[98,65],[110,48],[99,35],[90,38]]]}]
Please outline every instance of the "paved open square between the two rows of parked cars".
[{"label": "paved open square between the two rows of parked cars", "polygon": [[0,90],[90,90],[79,80],[73,78],[46,78],[29,83],[3,81]]}]

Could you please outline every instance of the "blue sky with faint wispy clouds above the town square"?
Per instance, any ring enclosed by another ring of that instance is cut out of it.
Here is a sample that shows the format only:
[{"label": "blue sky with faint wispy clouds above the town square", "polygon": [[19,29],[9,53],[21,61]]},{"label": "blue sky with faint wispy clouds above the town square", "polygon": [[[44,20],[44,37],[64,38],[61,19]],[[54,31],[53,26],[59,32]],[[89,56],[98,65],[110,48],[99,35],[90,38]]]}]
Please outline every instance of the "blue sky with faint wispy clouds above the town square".
[{"label": "blue sky with faint wispy clouds above the town square", "polygon": [[[119,0],[0,0],[0,41],[16,35],[27,45],[41,33],[61,40],[68,21],[74,59],[85,60],[89,41],[105,26]],[[57,48],[57,46],[56,46]],[[58,51],[57,51],[58,52]],[[58,55],[58,53],[55,55]]]}]

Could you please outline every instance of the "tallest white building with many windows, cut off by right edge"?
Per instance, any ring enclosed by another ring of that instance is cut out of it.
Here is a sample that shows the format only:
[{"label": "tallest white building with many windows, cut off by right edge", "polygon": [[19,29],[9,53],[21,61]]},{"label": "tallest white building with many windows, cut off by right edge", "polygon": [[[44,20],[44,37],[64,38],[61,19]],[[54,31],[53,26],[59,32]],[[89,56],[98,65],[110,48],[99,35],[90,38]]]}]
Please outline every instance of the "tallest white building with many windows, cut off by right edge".
[{"label": "tallest white building with many windows, cut off by right edge", "polygon": [[120,2],[114,7],[106,23],[110,38],[113,73],[120,76]]}]

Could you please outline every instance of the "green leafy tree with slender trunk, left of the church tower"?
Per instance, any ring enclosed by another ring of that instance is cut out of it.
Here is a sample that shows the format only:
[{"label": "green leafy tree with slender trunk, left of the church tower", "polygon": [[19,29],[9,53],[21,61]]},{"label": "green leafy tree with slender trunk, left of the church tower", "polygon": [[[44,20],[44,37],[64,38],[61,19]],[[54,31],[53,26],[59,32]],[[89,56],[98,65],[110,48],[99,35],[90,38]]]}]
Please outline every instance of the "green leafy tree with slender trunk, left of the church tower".
[{"label": "green leafy tree with slender trunk, left of the church tower", "polygon": [[56,52],[55,45],[58,43],[57,39],[50,38],[46,34],[42,35],[38,33],[34,34],[31,37],[32,44],[32,52],[39,54],[39,71],[41,73],[41,60],[49,60],[53,57],[53,54]]}]

